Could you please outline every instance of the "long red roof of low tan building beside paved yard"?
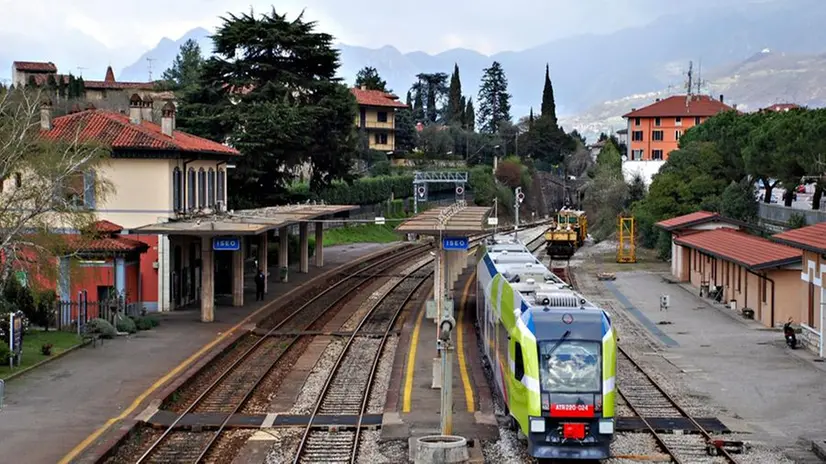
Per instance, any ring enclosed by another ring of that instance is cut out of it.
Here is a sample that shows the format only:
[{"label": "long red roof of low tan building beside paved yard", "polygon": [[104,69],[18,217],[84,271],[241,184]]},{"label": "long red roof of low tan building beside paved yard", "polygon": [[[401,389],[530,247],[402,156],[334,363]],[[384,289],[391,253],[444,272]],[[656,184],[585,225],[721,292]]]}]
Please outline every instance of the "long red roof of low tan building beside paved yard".
[{"label": "long red roof of low tan building beside paved yard", "polygon": [[731,229],[716,229],[674,239],[674,243],[748,268],[766,269],[799,262],[802,252]]}]

